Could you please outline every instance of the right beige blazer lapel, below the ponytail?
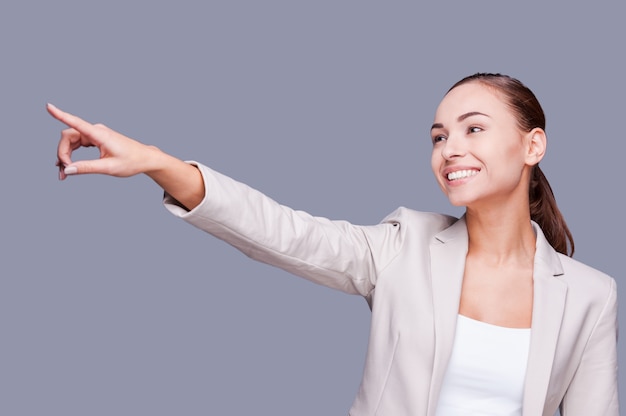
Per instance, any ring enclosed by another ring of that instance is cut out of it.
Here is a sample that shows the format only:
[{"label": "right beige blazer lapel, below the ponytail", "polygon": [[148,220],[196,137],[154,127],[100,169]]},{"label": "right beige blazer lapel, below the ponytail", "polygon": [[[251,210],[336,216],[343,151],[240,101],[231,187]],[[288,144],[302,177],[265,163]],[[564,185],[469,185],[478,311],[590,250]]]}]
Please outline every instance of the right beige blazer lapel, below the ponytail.
[{"label": "right beige blazer lapel, below the ponytail", "polygon": [[[537,235],[533,272],[532,332],[526,380],[524,384],[524,416],[543,415],[552,363],[565,311],[567,284],[556,278],[563,268],[556,251],[533,223]],[[549,412],[552,416],[554,411]]]}]

